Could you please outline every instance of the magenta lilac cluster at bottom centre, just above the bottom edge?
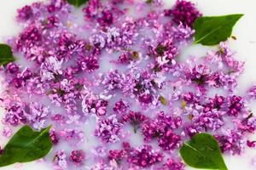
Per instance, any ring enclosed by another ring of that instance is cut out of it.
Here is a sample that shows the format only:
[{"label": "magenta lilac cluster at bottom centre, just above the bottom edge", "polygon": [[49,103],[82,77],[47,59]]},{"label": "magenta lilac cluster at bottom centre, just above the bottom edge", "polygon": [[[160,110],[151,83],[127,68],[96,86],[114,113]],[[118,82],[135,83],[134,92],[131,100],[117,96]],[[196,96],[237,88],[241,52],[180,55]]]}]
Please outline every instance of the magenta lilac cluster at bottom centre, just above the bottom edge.
[{"label": "magenta lilac cluster at bottom centre, just above the bottom edge", "polygon": [[143,145],[131,150],[127,161],[139,167],[150,167],[163,161],[163,157],[160,152],[153,150],[151,145]]}]

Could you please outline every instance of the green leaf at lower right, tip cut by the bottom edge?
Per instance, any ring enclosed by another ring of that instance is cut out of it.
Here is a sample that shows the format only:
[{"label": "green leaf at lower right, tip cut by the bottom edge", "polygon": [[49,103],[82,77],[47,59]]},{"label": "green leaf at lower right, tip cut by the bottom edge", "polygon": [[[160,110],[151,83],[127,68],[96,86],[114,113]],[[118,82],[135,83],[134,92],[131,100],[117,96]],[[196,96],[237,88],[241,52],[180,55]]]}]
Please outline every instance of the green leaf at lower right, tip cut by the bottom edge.
[{"label": "green leaf at lower right, tip cut by the bottom edge", "polygon": [[180,149],[180,154],[190,167],[228,170],[217,140],[208,133],[195,134]]}]

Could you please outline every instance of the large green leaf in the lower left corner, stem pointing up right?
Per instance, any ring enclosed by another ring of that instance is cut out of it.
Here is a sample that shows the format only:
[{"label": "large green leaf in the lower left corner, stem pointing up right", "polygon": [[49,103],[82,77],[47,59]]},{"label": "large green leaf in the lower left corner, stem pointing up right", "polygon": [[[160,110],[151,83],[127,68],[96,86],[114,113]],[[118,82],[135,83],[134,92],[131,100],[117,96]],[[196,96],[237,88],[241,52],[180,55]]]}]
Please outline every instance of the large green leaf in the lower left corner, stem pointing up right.
[{"label": "large green leaf in the lower left corner, stem pointing up right", "polygon": [[49,128],[44,128],[41,132],[34,132],[27,125],[21,127],[4,147],[3,155],[0,156],[0,167],[16,162],[35,161],[46,156],[52,148]]}]

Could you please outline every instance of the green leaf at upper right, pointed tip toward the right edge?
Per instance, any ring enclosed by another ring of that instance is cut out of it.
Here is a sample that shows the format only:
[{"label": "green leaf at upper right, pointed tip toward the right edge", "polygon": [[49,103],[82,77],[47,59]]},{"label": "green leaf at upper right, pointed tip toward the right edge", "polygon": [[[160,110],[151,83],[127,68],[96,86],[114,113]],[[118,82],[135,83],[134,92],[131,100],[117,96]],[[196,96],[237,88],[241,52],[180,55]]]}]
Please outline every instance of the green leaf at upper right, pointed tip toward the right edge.
[{"label": "green leaf at upper right, pointed tip toward the right edge", "polygon": [[231,36],[233,26],[243,14],[204,16],[195,20],[195,43],[216,45]]}]

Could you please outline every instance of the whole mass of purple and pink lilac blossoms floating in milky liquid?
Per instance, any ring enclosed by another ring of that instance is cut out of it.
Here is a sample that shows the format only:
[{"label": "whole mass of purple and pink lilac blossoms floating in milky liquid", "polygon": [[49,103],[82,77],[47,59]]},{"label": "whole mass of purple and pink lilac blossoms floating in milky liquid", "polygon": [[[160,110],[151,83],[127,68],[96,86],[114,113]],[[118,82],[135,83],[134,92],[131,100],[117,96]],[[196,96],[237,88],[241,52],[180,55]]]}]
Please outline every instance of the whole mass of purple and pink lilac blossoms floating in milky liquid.
[{"label": "whole mass of purple and pink lilac blossoms floating in milky liquid", "polygon": [[8,41],[20,58],[1,68],[3,135],[51,124],[57,170],[183,170],[178,149],[196,133],[212,133],[225,153],[255,147],[256,88],[236,94],[244,62],[228,42],[181,59],[201,13],[189,1],[163,4],[90,0],[83,21],[66,0],[20,8],[22,30]]}]

